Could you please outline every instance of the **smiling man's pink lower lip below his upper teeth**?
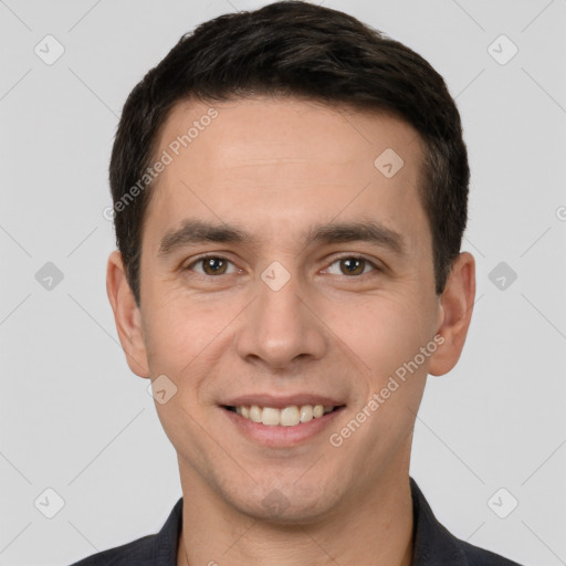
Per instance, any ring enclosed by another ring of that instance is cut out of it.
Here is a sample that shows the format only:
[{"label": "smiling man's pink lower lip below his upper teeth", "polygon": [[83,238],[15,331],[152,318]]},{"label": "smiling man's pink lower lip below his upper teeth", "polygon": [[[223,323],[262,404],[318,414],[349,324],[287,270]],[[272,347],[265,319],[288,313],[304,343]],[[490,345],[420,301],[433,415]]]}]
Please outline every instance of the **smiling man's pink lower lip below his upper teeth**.
[{"label": "smiling man's pink lower lip below his upper teeth", "polygon": [[[311,403],[306,402],[303,405]],[[321,402],[316,405],[324,403]],[[332,402],[329,402],[328,405],[332,405]],[[270,407],[270,405],[265,405],[265,407]],[[271,405],[271,407],[273,407],[273,405]],[[346,406],[343,405],[335,409],[334,411],[327,412],[322,417],[312,419],[308,422],[301,422],[294,427],[282,427],[262,424],[261,422],[253,422],[250,419],[241,417],[237,412],[230,411],[224,407],[220,407],[222,415],[224,415],[226,418],[229,419],[229,421],[234,426],[235,430],[240,434],[259,444],[271,448],[291,448],[313,439],[314,437],[321,434],[325,429],[329,428],[345,408]]]}]

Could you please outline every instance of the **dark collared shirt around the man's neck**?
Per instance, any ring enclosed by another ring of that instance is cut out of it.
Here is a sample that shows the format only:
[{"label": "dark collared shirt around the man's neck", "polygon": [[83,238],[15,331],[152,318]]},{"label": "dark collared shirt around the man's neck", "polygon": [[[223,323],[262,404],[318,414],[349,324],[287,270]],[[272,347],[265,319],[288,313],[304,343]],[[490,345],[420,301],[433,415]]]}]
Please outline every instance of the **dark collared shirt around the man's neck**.
[{"label": "dark collared shirt around the man's neck", "polygon": [[[411,479],[415,538],[412,566],[518,566],[499,554],[452,536],[434,517],[424,495]],[[182,526],[182,497],[161,531],[80,560],[72,566],[177,566]]]}]

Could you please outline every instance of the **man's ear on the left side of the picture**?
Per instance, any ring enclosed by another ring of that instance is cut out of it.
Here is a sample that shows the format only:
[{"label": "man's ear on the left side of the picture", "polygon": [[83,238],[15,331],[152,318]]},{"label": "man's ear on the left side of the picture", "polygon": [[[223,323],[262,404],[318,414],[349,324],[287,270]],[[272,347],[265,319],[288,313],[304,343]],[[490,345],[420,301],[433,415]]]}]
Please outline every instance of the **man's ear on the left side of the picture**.
[{"label": "man's ear on the left side of the picture", "polygon": [[113,251],[108,258],[106,293],[114,311],[116,329],[129,369],[139,377],[149,377],[142,313],[127,282],[126,270],[118,250]]}]

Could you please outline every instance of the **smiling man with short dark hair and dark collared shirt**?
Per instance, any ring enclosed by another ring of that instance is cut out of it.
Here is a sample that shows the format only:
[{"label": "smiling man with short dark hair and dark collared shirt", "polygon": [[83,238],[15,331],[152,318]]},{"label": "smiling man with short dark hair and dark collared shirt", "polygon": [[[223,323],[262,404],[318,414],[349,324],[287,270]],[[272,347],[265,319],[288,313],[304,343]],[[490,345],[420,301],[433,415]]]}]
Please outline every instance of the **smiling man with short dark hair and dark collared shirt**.
[{"label": "smiling man with short dark hair and dark collared shirt", "polygon": [[87,565],[512,565],[409,478],[475,294],[460,116],[418,54],[277,2],[181,38],[129,95],[107,291],[182,499]]}]

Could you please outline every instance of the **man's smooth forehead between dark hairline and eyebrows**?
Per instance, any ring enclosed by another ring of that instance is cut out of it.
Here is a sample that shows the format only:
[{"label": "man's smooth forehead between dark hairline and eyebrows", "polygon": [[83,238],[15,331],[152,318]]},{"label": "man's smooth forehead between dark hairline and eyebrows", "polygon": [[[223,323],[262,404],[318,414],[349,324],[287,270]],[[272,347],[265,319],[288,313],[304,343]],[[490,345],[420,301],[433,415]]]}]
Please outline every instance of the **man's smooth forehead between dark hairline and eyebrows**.
[{"label": "man's smooth forehead between dark hairline and eyebrows", "polygon": [[428,232],[417,193],[420,137],[390,115],[296,98],[185,101],[164,124],[155,157],[167,165],[151,188],[150,245],[187,217],[265,238],[285,228],[291,239],[314,222],[365,214],[428,238],[418,233]]}]

